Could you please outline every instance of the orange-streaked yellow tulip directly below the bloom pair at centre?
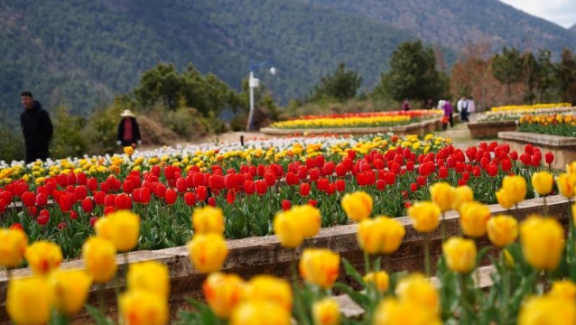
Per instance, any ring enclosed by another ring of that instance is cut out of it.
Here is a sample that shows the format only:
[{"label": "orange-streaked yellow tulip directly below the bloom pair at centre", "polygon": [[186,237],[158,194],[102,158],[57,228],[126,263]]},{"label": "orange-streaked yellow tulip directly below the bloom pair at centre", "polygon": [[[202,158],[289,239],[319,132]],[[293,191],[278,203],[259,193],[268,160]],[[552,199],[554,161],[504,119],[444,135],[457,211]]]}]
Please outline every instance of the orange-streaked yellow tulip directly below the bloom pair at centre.
[{"label": "orange-streaked yellow tulip directly below the bloom pair at centre", "polygon": [[308,283],[328,289],[339,275],[340,256],[330,249],[306,248],[300,260],[300,274]]}]

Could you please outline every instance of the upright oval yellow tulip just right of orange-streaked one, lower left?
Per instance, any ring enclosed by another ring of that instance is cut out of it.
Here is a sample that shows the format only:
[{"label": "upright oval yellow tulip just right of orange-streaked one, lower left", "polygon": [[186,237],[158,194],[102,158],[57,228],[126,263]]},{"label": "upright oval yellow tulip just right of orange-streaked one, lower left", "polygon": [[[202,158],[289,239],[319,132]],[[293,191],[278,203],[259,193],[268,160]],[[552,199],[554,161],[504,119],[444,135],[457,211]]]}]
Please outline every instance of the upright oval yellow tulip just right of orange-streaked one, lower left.
[{"label": "upright oval yellow tulip just right of orange-streaked one, lower left", "polygon": [[104,238],[90,237],[82,245],[82,260],[95,283],[107,283],[116,274],[116,247]]}]

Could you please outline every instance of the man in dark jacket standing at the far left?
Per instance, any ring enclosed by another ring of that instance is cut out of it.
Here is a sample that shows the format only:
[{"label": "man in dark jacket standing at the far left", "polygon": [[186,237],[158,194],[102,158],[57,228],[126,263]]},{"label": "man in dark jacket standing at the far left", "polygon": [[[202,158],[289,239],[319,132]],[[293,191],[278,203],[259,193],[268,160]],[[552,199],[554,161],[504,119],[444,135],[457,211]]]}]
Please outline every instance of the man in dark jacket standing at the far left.
[{"label": "man in dark jacket standing at the far left", "polygon": [[26,145],[26,163],[33,163],[38,159],[44,161],[50,156],[48,144],[53,133],[50,115],[39,101],[34,100],[30,91],[23,91],[20,99],[24,107],[20,115],[20,125]]}]

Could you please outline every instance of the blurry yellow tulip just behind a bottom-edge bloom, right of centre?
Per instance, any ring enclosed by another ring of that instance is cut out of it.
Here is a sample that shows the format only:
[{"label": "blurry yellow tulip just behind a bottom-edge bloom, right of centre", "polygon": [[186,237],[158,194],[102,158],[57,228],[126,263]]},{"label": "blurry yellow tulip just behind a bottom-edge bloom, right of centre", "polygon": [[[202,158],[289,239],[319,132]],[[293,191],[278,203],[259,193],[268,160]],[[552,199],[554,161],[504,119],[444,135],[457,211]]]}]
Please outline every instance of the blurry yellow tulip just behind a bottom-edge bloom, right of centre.
[{"label": "blurry yellow tulip just behind a bottom-edge bloom, right of centre", "polygon": [[423,274],[410,274],[396,285],[396,295],[401,301],[413,302],[437,313],[440,308],[440,296],[430,280]]}]

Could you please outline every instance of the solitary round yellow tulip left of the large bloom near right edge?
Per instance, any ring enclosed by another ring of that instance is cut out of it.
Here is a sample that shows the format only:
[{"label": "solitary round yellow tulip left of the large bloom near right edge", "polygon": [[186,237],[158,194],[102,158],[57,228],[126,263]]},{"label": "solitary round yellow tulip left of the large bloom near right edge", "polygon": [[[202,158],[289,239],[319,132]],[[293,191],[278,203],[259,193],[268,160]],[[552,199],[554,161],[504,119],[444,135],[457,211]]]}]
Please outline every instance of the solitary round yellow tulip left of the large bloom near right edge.
[{"label": "solitary round yellow tulip left of the large bloom near right edge", "polygon": [[452,271],[468,274],[476,266],[476,244],[471,239],[451,237],[442,244],[446,265]]}]

